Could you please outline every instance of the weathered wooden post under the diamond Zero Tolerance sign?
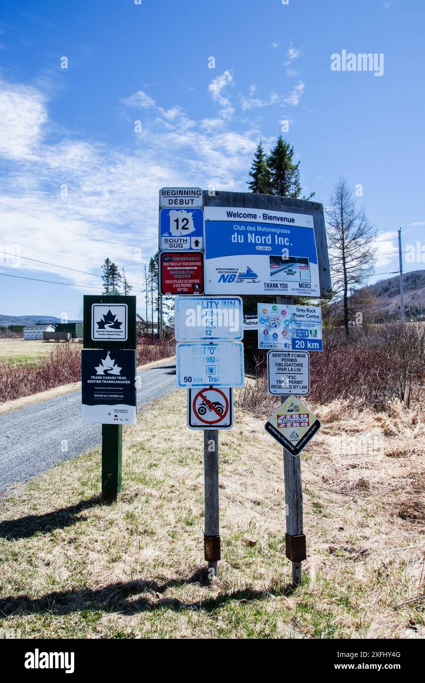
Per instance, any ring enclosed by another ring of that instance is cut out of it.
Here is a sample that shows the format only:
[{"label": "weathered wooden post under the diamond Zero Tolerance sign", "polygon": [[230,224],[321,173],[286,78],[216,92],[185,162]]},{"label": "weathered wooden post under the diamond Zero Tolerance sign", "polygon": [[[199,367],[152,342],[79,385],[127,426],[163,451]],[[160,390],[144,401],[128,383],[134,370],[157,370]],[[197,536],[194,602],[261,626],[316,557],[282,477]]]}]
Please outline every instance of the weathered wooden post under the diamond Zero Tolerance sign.
[{"label": "weathered wooden post under the diamond Zero Tolerance sign", "polygon": [[[277,296],[276,303],[294,303],[292,296]],[[288,398],[282,395],[282,403]],[[307,559],[303,533],[303,486],[301,482],[301,458],[294,458],[284,448],[285,507],[286,507],[286,557],[292,563],[292,581],[301,585],[301,562]]]}]

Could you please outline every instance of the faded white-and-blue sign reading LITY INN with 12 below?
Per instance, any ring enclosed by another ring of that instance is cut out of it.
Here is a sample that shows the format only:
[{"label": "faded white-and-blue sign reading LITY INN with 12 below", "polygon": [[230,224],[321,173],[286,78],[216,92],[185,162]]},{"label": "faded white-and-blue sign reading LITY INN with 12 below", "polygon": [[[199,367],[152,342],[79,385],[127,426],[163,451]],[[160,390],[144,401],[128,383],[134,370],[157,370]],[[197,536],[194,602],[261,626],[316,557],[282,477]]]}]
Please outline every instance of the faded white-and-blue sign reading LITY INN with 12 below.
[{"label": "faded white-and-blue sign reading LITY INN with 12 below", "polygon": [[203,342],[243,338],[240,296],[177,296],[174,313],[178,342]]}]

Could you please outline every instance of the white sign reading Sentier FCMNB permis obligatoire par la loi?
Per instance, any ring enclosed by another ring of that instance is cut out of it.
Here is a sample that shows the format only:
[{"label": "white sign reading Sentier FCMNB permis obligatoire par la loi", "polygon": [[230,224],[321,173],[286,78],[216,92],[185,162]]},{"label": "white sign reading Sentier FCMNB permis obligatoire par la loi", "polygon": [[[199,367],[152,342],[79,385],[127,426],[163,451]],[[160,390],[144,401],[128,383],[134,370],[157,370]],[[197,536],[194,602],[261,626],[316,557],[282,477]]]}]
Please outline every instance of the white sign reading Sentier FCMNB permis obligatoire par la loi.
[{"label": "white sign reading Sentier FCMNB permis obligatoire par la loi", "polygon": [[271,395],[310,393],[310,356],[307,351],[269,351],[267,381]]}]

